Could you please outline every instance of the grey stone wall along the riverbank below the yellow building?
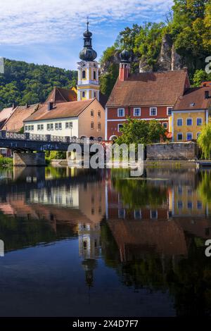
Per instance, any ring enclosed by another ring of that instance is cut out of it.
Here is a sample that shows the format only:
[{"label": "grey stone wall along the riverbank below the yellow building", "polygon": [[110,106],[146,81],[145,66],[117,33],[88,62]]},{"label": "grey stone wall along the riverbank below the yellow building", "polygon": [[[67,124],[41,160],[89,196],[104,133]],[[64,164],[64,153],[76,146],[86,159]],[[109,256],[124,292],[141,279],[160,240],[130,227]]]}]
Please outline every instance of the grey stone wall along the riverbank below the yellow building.
[{"label": "grey stone wall along the riverbank below the yellow building", "polygon": [[195,142],[170,142],[146,146],[148,161],[196,160],[198,148]]}]

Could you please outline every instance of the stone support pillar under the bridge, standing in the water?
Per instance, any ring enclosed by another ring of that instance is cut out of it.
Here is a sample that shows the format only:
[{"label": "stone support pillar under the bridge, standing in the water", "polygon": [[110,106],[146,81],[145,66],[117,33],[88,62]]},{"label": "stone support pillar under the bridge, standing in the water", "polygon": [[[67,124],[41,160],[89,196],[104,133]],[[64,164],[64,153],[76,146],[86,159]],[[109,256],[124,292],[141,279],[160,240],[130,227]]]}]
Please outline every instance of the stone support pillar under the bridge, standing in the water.
[{"label": "stone support pillar under the bridge, standing in the water", "polygon": [[22,167],[46,165],[45,153],[44,151],[39,151],[37,153],[14,152],[13,165]]}]

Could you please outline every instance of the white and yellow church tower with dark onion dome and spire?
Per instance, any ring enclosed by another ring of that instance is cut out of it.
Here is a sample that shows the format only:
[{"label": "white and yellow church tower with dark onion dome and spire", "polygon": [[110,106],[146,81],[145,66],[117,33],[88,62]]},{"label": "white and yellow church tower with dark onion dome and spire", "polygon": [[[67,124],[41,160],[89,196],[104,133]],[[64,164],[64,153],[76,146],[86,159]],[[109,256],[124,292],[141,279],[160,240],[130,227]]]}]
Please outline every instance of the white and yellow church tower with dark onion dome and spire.
[{"label": "white and yellow church tower with dark onion dome and spire", "polygon": [[79,53],[77,72],[77,100],[98,99],[99,100],[99,81],[98,81],[98,62],[94,61],[97,57],[96,51],[91,46],[92,33],[89,31],[87,21],[87,31],[84,32],[84,48]]}]

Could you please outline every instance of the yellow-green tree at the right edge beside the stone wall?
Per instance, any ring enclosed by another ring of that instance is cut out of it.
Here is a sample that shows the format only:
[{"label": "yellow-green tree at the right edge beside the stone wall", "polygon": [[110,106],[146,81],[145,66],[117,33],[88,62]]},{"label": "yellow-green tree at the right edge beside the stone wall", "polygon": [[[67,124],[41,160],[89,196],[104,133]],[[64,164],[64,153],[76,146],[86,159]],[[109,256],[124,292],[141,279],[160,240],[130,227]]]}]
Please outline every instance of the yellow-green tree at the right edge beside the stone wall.
[{"label": "yellow-green tree at the right edge beside the stone wall", "polygon": [[205,158],[210,158],[211,153],[211,123],[203,126],[200,135],[197,139],[198,145],[202,150],[202,155]]}]

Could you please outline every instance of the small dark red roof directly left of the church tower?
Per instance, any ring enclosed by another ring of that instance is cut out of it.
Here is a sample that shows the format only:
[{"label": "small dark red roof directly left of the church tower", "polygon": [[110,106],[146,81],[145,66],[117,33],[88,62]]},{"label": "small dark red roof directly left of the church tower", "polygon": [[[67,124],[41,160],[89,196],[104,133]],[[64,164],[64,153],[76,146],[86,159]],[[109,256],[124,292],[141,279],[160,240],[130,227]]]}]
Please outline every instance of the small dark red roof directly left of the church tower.
[{"label": "small dark red roof directly left of the church tower", "polygon": [[46,102],[53,102],[59,104],[60,102],[77,101],[77,93],[74,89],[63,89],[61,87],[54,87],[49,94]]}]

